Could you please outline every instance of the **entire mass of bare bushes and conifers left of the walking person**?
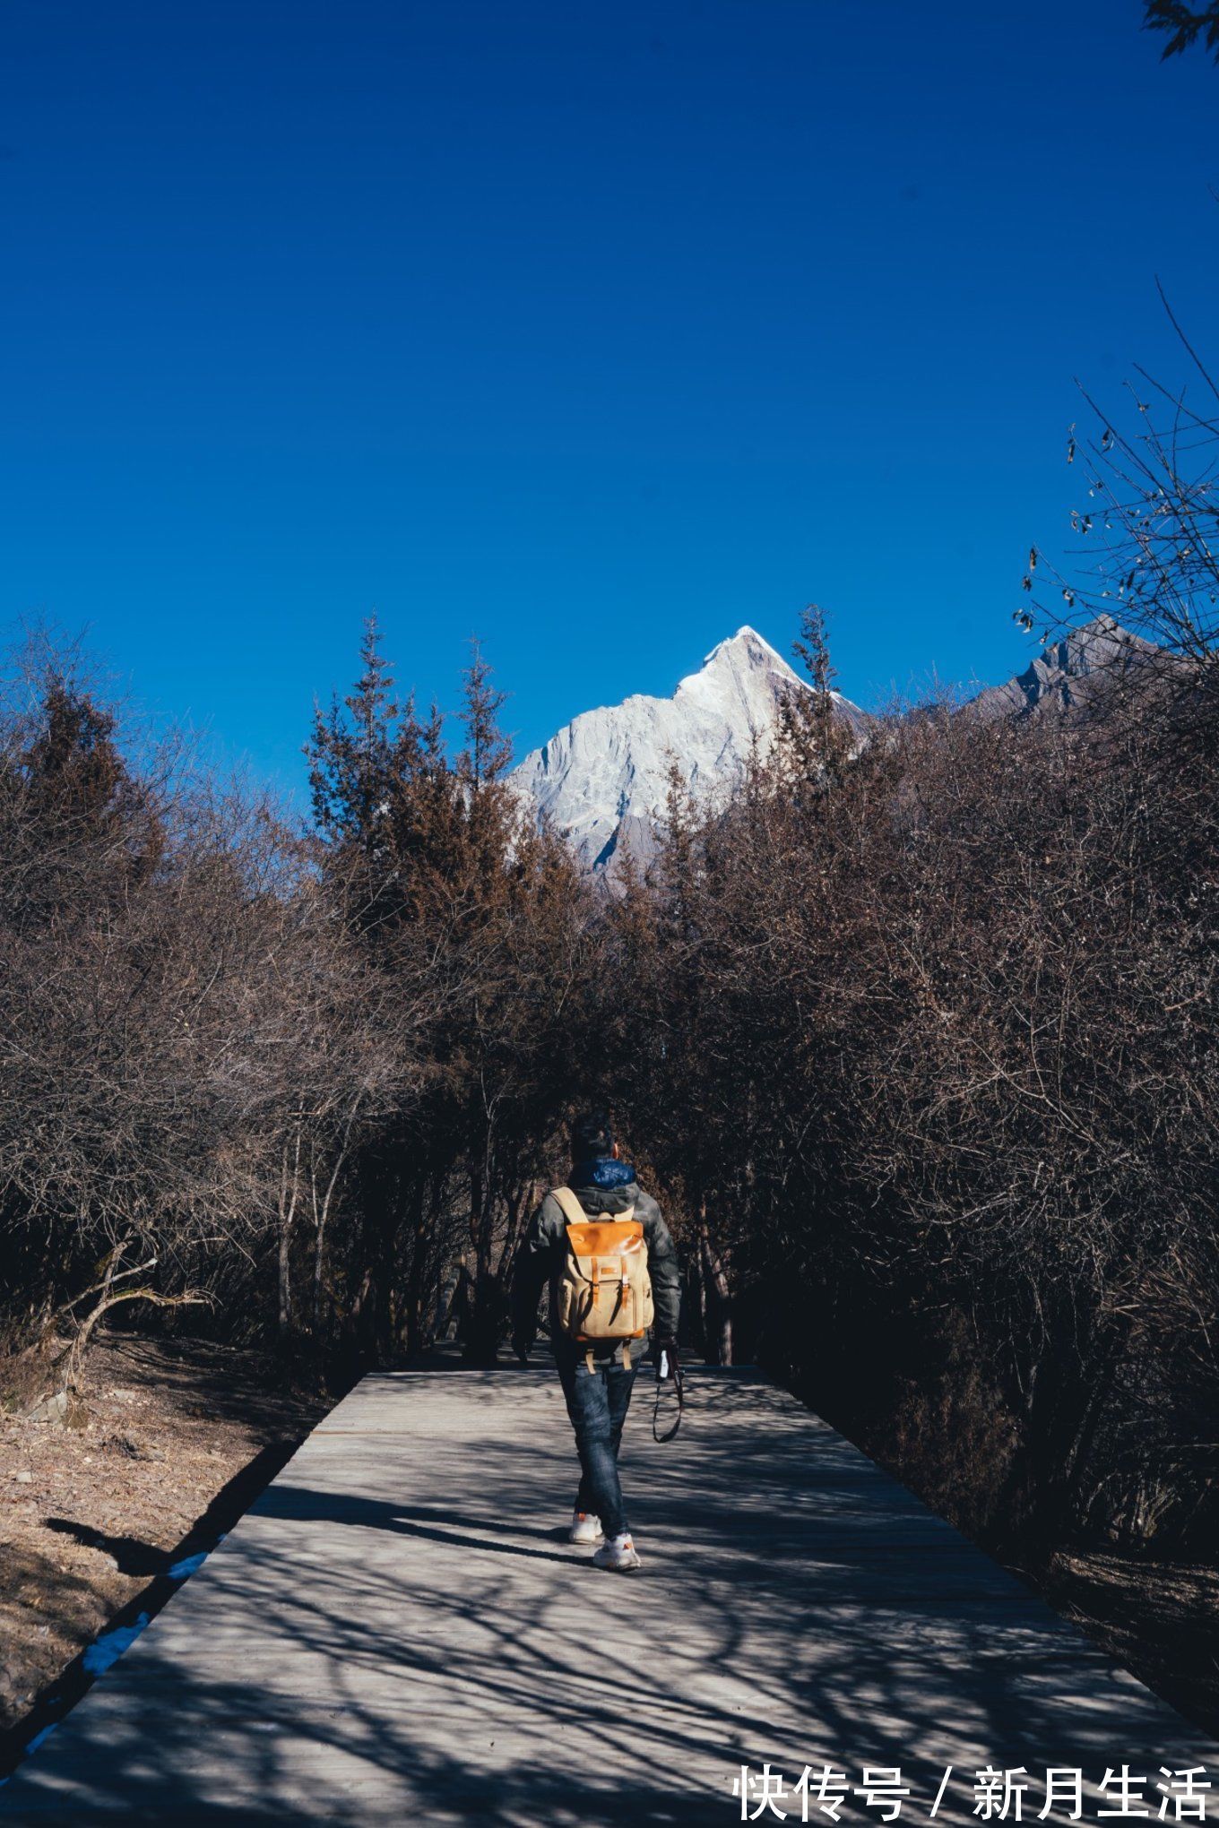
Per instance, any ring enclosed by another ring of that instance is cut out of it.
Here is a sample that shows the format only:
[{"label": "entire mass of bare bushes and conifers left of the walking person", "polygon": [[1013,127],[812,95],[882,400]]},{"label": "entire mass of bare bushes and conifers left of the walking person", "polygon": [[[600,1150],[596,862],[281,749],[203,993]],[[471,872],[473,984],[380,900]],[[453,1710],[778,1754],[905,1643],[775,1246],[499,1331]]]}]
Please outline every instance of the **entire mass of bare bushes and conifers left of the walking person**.
[{"label": "entire mass of bare bushes and conifers left of the walking person", "polygon": [[331,1371],[453,1325],[493,1355],[581,1082],[592,914],[503,781],[497,711],[475,656],[450,757],[369,631],[360,686],[316,720],[302,839],[124,748],[62,656],[15,667],[0,1322],[26,1398],[62,1404],[97,1323],[137,1307]]}]

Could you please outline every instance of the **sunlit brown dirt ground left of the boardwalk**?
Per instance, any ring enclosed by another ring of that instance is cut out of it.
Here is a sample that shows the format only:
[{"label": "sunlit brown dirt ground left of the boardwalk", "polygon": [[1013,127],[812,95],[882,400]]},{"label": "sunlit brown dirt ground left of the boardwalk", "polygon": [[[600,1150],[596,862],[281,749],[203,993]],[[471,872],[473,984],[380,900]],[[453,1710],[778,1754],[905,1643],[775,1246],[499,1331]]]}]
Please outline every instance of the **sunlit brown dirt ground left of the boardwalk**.
[{"label": "sunlit brown dirt ground left of the boardwalk", "polygon": [[183,1548],[210,1546],[333,1402],[283,1387],[256,1353],[133,1336],[97,1344],[82,1395],[68,1422],[0,1413],[0,1753],[48,1684]]}]

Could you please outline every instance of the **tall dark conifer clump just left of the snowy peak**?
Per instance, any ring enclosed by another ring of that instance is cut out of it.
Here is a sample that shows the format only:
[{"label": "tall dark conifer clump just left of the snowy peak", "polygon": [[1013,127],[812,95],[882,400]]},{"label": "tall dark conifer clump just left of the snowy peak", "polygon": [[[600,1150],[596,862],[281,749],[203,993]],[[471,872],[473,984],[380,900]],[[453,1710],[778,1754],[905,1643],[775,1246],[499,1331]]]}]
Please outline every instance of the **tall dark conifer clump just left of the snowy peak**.
[{"label": "tall dark conifer clump just left of the snowy peak", "polygon": [[369,625],[364,675],[309,751],[323,890],[371,994],[409,1000],[422,1062],[351,1163],[344,1311],[382,1362],[450,1325],[493,1358],[523,1227],[588,1080],[594,899],[504,781],[501,704],[475,649],[450,755],[439,711],[395,700]]}]

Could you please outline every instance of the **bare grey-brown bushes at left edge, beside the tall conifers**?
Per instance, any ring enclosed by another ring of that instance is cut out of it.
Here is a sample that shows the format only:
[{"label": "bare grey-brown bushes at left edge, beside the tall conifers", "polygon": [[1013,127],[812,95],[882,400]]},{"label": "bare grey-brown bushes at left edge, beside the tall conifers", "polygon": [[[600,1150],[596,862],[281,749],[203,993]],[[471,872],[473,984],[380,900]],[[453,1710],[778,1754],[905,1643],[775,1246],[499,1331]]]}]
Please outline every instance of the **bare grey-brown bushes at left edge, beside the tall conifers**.
[{"label": "bare grey-brown bushes at left edge, beside the tall conifers", "polygon": [[270,810],[124,757],[53,656],[0,706],[0,971],[4,1322],[66,1395],[113,1307],[241,1281],[364,1042],[302,1046],[349,967]]}]

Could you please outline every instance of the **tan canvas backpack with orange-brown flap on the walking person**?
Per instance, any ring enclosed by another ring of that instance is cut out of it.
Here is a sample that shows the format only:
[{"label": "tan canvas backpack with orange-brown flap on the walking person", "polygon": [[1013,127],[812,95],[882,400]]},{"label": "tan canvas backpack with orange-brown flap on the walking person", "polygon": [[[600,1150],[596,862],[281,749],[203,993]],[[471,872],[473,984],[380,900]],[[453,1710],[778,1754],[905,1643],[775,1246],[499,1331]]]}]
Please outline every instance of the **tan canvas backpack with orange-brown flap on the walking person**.
[{"label": "tan canvas backpack with orange-brown flap on the walking person", "polygon": [[570,1186],[554,1197],[567,1219],[567,1258],[559,1270],[559,1327],[568,1340],[588,1347],[621,1340],[621,1362],[631,1364],[631,1340],[641,1340],[652,1323],[652,1283],[647,1274],[647,1241],[634,1206],[614,1217],[588,1217]]}]

